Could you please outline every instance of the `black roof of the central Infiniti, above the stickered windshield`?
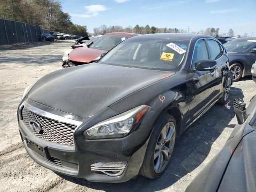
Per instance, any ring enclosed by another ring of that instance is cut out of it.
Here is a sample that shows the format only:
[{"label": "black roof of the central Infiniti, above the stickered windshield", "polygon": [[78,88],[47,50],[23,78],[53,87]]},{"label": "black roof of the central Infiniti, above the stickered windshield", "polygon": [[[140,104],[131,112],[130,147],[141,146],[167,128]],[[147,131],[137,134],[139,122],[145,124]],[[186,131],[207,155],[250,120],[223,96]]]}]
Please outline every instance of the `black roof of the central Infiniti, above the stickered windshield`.
[{"label": "black roof of the central Infiniti, above the stickered windshield", "polygon": [[192,38],[214,38],[209,35],[202,34],[182,34],[182,33],[154,33],[137,36],[136,38],[162,38],[162,39],[179,39],[179,40],[191,40]]}]

